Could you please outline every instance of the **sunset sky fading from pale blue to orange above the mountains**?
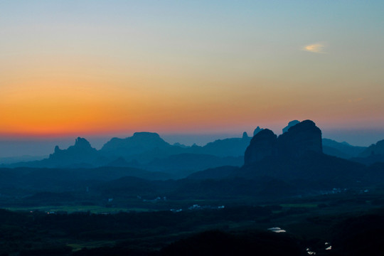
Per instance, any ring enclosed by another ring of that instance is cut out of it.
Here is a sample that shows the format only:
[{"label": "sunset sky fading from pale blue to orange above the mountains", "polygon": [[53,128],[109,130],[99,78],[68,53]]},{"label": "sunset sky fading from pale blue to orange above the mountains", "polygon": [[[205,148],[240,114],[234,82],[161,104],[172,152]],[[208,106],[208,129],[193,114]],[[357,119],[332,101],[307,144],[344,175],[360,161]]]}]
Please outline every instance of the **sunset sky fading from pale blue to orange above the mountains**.
[{"label": "sunset sky fading from pale blue to orange above the mountains", "polygon": [[311,119],[368,146],[384,139],[383,13],[384,1],[2,0],[0,144],[183,142]]}]

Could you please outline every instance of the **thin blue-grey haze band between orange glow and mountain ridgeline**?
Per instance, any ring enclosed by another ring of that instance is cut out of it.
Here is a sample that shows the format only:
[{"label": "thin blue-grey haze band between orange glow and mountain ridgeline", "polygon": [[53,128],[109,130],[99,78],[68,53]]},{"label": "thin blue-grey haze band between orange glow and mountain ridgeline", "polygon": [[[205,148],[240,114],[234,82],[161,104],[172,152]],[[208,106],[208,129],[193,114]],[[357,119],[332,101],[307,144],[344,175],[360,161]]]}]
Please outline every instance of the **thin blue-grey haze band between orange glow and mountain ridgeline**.
[{"label": "thin blue-grey haze band between orange glow and mountain ridgeline", "polygon": [[[264,127],[268,128],[268,127]],[[271,129],[271,128],[268,128]],[[281,129],[272,129],[272,131],[279,135],[282,134]],[[144,131],[137,131],[144,132]],[[148,131],[145,131],[148,132]],[[149,131],[156,132],[156,131]],[[243,130],[242,132],[247,132],[249,137],[252,137],[252,130]],[[227,139],[227,138],[240,138],[242,137],[242,132],[232,132],[232,133],[201,133],[201,134],[164,134],[157,132],[164,141],[169,142],[169,144],[181,143],[186,146],[191,146],[192,144],[197,144],[198,146],[204,146],[208,142],[213,142],[216,139]],[[348,130],[327,130],[322,129],[323,138],[333,139],[336,142],[348,142],[352,146],[370,146],[376,142],[384,139],[383,130],[358,130],[358,129],[348,129]],[[101,149],[102,146],[108,142],[112,137],[126,138],[131,137],[132,133],[127,134],[111,134],[110,136],[84,136],[84,134],[79,136],[71,137],[50,137],[50,138],[36,138],[36,137],[23,137],[23,138],[4,138],[0,137],[0,158],[9,158],[17,156],[48,156],[53,153],[55,146],[59,146],[60,149],[67,149],[68,146],[75,144],[75,139],[77,137],[84,137],[87,139],[92,147],[95,149]],[[1,164],[1,163],[0,163]]]}]

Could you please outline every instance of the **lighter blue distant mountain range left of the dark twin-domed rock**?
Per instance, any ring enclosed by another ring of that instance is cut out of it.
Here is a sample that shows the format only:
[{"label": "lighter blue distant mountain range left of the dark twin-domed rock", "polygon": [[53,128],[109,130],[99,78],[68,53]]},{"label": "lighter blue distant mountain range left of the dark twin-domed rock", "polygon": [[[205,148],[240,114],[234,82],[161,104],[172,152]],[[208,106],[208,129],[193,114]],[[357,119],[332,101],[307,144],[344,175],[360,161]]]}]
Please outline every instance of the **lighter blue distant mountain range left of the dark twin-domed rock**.
[{"label": "lighter blue distant mountain range left of the dark twin-domed rock", "polygon": [[[78,137],[68,149],[55,146],[47,159],[40,161],[3,164],[3,167],[33,168],[95,168],[116,166],[166,171],[175,178],[186,176],[223,165],[241,166],[245,148],[250,137],[218,139],[206,146],[171,145],[153,132],[136,132],[125,139],[112,138],[102,149],[97,150],[85,138]],[[1,166],[1,165],[0,165]]]}]

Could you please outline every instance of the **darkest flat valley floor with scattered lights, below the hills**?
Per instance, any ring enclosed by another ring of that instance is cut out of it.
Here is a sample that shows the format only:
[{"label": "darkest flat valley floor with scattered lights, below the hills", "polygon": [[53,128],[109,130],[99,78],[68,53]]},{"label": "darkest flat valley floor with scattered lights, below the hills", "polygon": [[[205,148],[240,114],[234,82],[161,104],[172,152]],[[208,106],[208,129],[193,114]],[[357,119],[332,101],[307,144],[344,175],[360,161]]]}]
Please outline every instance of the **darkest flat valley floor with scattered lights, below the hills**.
[{"label": "darkest flat valley floor with scattered lights, below the hills", "polygon": [[383,196],[375,188],[264,202],[125,201],[131,208],[114,200],[104,206],[8,202],[0,210],[0,255],[378,255]]}]

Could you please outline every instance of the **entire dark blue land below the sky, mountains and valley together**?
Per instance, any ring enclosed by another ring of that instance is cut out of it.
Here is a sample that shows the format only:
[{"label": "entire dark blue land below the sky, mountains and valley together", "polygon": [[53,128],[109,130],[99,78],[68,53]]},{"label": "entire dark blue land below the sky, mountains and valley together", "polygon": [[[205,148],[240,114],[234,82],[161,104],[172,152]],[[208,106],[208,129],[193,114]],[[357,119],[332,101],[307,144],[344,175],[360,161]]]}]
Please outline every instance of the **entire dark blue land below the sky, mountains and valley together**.
[{"label": "entire dark blue land below the sky, mountains and valley together", "polygon": [[87,139],[1,163],[0,255],[382,255],[384,140],[277,136],[205,146]]}]

